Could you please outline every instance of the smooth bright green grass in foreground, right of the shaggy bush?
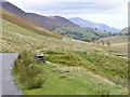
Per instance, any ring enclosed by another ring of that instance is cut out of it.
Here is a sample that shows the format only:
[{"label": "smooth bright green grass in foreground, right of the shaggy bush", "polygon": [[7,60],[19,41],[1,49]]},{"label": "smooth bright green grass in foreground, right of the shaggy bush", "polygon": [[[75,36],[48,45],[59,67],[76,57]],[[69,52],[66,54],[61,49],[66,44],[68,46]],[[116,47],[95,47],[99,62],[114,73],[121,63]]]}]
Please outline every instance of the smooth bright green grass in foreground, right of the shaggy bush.
[{"label": "smooth bright green grass in foreground, right of the shaggy bush", "polygon": [[[93,78],[77,67],[44,65],[47,80],[41,88],[24,89],[26,95],[126,95],[118,85]],[[65,71],[67,68],[67,71]],[[65,69],[65,70],[64,70]]]}]

